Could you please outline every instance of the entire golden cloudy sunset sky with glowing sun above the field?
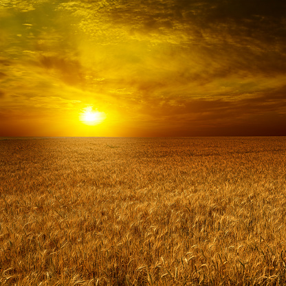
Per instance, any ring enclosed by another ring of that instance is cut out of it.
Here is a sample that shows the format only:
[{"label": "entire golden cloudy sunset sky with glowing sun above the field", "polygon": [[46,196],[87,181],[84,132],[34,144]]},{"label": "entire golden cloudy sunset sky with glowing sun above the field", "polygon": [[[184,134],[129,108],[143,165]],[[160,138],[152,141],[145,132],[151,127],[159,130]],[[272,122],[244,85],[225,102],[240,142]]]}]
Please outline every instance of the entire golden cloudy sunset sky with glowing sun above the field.
[{"label": "entire golden cloudy sunset sky with glowing sun above the field", "polygon": [[286,135],[285,0],[0,0],[0,136],[216,135]]}]

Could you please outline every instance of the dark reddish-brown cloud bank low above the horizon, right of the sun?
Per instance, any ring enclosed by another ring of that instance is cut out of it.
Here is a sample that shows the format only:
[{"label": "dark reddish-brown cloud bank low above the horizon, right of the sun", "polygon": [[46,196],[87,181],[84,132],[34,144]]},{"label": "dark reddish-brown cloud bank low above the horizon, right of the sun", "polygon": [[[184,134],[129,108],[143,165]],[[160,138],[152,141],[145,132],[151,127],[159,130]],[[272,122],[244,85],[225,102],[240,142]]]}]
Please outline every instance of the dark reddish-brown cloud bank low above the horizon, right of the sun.
[{"label": "dark reddish-brown cloud bank low above the horizon, right of the sun", "polygon": [[[158,124],[164,122],[163,126],[173,128],[175,124],[181,130],[177,135],[186,135],[185,131],[190,132],[188,135],[192,134],[188,125],[212,126],[213,131],[221,130],[218,133],[220,135],[235,135],[237,130],[240,135],[251,135],[251,132],[253,135],[263,135],[265,126],[265,134],[273,135],[277,131],[283,135],[286,128],[286,86],[265,90],[260,96],[238,100],[180,100],[177,96],[164,102],[149,100],[145,102],[141,113],[151,116]],[[182,128],[185,131],[179,126],[184,126]],[[243,126],[248,128],[244,133]],[[255,126],[257,132],[254,132]],[[203,130],[207,129],[203,127]]]}]

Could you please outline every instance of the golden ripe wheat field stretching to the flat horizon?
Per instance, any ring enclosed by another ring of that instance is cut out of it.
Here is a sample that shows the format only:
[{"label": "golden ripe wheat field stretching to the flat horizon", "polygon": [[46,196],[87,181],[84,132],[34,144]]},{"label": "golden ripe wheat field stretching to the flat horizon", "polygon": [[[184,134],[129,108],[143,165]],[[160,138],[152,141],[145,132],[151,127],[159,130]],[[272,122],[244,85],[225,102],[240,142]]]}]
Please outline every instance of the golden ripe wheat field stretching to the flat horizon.
[{"label": "golden ripe wheat field stretching to the flat horizon", "polygon": [[286,285],[286,137],[0,138],[0,285]]}]

